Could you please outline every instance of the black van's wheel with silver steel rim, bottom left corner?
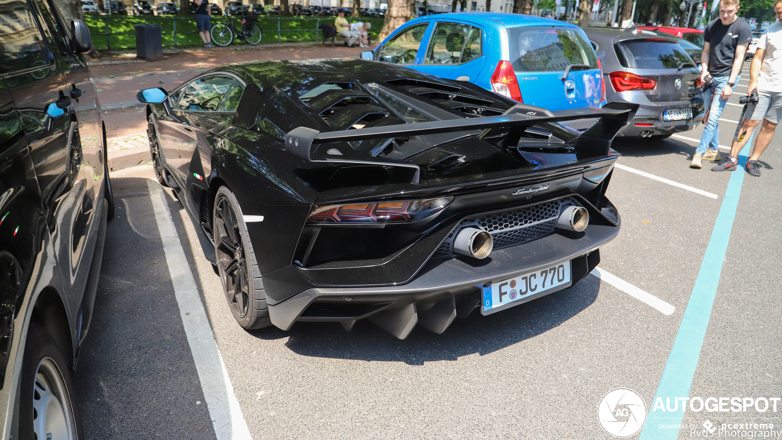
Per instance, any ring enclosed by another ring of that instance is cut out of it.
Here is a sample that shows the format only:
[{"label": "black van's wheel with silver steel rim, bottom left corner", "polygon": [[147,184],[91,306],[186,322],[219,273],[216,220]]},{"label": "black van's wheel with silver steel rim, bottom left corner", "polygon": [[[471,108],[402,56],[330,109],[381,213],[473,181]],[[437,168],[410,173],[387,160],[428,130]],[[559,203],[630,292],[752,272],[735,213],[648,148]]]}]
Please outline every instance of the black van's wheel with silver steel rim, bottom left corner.
[{"label": "black van's wheel with silver steel rim, bottom left corner", "polygon": [[38,324],[27,331],[20,386],[20,438],[82,438],[65,353]]}]

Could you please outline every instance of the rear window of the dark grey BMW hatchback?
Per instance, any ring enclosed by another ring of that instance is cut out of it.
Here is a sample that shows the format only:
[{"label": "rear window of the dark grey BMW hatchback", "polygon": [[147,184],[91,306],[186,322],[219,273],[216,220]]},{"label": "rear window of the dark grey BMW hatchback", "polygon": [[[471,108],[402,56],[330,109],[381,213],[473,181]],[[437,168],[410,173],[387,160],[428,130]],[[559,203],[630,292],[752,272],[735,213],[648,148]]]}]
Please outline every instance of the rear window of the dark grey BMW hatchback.
[{"label": "rear window of the dark grey BMW hatchback", "polygon": [[635,69],[676,69],[681,63],[692,63],[678,43],[662,41],[622,41],[616,45],[616,55],[623,67]]}]

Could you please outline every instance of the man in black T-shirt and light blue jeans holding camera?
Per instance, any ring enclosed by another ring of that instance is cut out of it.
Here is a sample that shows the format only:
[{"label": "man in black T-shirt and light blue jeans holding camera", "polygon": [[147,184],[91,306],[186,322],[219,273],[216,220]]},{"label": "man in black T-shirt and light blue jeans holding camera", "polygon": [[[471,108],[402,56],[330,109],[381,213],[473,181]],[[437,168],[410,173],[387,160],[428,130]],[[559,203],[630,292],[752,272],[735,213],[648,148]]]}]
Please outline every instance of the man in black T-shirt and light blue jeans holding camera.
[{"label": "man in black T-shirt and light blue jeans holding camera", "polygon": [[701,142],[692,156],[690,166],[701,168],[701,160],[716,160],[719,152],[719,116],[723,114],[728,98],[741,78],[744,53],[752,42],[752,30],[747,20],[737,16],[738,0],[719,2],[719,18],[708,23],[703,33],[705,44],[701,52],[701,82],[708,75],[714,87],[704,93],[712,95],[708,120]]}]

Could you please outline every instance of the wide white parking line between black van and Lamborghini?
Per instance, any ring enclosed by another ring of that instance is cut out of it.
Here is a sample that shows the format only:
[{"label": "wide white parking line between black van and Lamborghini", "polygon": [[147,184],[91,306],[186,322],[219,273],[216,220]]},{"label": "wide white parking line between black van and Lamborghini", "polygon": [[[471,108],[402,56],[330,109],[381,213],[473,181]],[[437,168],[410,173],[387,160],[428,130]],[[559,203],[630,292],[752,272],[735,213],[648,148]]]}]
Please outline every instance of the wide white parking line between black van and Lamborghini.
[{"label": "wide white parking line between black van and Lamborghini", "polygon": [[242,416],[239,401],[225,363],[214,341],[212,327],[206,319],[198,288],[195,287],[192,271],[185,252],[182,250],[179,236],[171,220],[171,213],[163,196],[163,188],[156,181],[147,181],[149,199],[155,210],[155,220],[160,231],[160,241],[166,253],[168,273],[174,284],[179,314],[185,327],[190,351],[198,371],[203,397],[212,418],[217,440],[251,440],[249,429]]}]

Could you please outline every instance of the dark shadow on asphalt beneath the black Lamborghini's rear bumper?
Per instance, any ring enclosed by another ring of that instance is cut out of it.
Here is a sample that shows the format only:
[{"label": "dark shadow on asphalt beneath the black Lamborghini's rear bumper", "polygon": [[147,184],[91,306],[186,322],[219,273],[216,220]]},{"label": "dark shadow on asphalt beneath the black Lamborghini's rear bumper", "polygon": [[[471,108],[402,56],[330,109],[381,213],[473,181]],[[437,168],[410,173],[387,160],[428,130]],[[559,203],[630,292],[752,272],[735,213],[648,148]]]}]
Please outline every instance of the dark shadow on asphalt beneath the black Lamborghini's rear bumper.
[{"label": "dark shadow on asphalt beneath the black Lamborghini's rear bumper", "polygon": [[587,276],[572,289],[486,317],[475,309],[466,319],[454,320],[443,334],[417,326],[405,340],[394,338],[368,320],[358,321],[350,332],[339,323],[296,323],[289,331],[269,327],[249,333],[260,339],[287,337],[285,345],[302,356],[423,365],[475,353],[483,356],[534,338],[589,307],[599,288],[600,281]]}]

